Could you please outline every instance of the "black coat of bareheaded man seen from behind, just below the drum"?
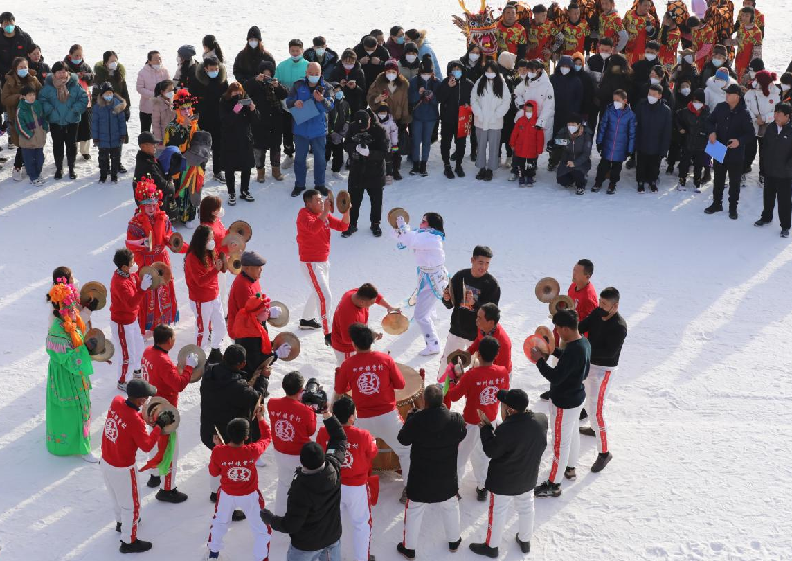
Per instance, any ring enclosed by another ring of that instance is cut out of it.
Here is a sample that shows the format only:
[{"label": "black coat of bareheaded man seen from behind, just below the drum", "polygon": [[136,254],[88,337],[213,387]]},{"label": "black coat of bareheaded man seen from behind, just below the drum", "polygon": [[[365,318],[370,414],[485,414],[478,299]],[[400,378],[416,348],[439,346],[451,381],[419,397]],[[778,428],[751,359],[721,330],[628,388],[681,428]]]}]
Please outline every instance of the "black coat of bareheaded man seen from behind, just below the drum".
[{"label": "black coat of bareheaded man seen from behind, just below the drum", "polygon": [[398,441],[409,449],[407,498],[415,502],[444,502],[459,491],[456,456],[465,440],[465,420],[446,406],[407,415]]}]

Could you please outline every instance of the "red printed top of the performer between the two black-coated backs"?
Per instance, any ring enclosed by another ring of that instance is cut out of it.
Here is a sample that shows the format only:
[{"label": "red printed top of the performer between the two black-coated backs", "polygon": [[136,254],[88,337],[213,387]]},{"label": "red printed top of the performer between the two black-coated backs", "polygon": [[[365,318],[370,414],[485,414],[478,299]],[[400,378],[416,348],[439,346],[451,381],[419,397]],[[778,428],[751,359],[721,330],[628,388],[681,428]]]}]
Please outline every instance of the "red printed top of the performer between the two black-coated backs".
[{"label": "red printed top of the performer between the two black-coated backs", "polygon": [[477,366],[464,373],[456,384],[451,384],[445,396],[446,406],[451,402],[459,401],[464,396],[465,409],[462,416],[470,425],[478,425],[478,409],[484,411],[490,422],[497,417],[498,400],[497,392],[508,390],[508,372],[506,368],[492,364],[490,366]]}]

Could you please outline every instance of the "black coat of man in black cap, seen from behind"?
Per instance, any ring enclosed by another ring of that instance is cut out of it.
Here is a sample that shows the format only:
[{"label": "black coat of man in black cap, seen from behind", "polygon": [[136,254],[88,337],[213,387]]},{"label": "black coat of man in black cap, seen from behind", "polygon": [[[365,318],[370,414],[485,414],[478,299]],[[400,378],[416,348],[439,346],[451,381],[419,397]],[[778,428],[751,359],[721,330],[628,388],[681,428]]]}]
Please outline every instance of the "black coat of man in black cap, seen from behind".
[{"label": "black coat of man in black cap, seen from behind", "polygon": [[479,429],[489,458],[485,488],[494,494],[515,496],[536,487],[539,464],[547,447],[547,416],[526,411],[511,414],[497,429]]}]

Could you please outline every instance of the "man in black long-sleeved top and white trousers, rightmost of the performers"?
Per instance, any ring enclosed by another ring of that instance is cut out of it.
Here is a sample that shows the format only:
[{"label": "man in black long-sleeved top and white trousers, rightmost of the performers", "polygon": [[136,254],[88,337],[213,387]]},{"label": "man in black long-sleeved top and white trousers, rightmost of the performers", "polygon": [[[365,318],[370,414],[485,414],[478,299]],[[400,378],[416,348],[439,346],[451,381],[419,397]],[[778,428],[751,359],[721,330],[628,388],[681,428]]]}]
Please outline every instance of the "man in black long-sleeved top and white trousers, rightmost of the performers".
[{"label": "man in black long-sleeved top and white trousers, rightmost of the performers", "polygon": [[581,426],[580,432],[588,437],[596,437],[597,459],[592,472],[604,470],[613,458],[607,441],[607,423],[603,410],[605,399],[611,390],[611,378],[619,366],[624,340],[627,337],[627,322],[619,314],[619,291],[612,286],[600,292],[599,307],[578,324],[581,333],[588,332],[591,345],[591,364],[588,377],[583,381],[586,391],[586,409],[595,412],[591,426]]}]

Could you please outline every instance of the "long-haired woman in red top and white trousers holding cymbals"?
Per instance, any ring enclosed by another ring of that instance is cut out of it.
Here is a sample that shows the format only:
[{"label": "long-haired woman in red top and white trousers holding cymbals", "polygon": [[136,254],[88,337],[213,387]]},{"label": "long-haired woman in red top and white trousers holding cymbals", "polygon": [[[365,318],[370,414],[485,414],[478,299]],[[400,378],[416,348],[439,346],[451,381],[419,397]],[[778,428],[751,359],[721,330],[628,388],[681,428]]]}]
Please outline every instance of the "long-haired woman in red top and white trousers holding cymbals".
[{"label": "long-haired woman in red top and white trousers holding cymbals", "polygon": [[226,319],[217,281],[221,269],[223,261],[217,250],[215,235],[210,227],[201,224],[192,235],[185,257],[185,281],[190,307],[196,315],[196,345],[204,349],[208,347],[208,335],[211,333],[211,353],[207,360],[212,364],[223,359],[220,343],[226,336]]}]

